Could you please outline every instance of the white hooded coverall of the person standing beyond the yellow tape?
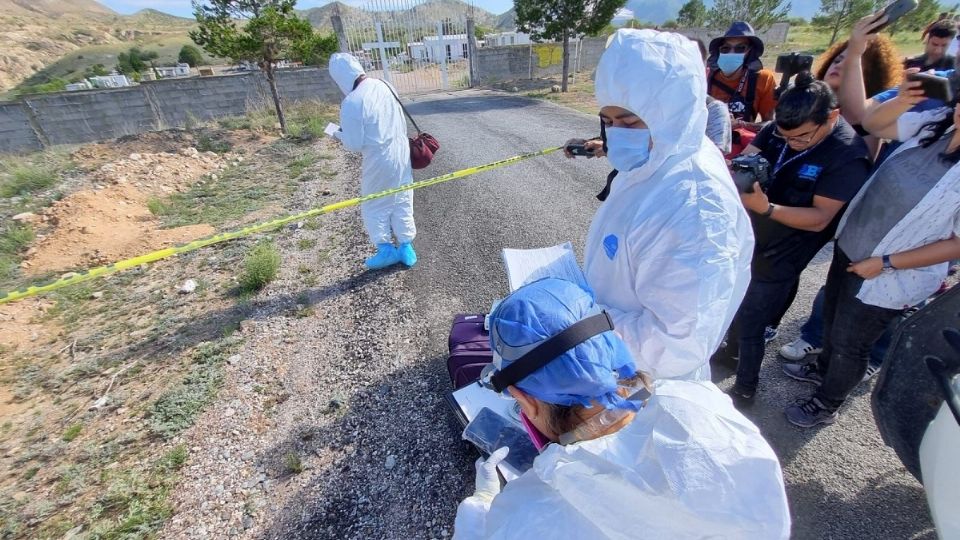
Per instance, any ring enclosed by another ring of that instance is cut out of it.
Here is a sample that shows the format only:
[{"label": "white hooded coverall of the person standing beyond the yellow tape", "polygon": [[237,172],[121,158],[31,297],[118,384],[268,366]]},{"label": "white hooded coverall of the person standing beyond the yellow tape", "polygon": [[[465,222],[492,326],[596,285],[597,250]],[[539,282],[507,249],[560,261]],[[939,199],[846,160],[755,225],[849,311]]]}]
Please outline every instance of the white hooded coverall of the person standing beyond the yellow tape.
[{"label": "white hooded coverall of the person standing beyond the yellow tape", "polygon": [[[413,182],[413,169],[403,109],[385,81],[368,78],[354,90],[363,74],[352,55],[330,57],[330,76],[347,96],[340,105],[338,138],[347,150],[363,154],[360,193],[369,195]],[[411,191],[362,203],[360,213],[375,245],[391,243],[393,236],[399,243],[412,242],[417,234]]]}]

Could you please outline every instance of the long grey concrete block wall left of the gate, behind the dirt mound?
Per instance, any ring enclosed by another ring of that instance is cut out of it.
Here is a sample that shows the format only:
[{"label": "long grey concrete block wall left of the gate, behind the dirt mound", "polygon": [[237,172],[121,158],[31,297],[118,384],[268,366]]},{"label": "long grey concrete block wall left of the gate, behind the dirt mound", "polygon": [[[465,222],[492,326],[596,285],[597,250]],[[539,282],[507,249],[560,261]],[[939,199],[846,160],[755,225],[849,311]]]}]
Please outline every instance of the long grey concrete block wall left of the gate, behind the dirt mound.
[{"label": "long grey concrete block wall left of the gate, behind the dirt mound", "polygon": [[[284,103],[311,99],[340,103],[343,99],[326,68],[280,71],[277,86]],[[270,88],[261,73],[25,96],[0,103],[0,153],[182,127],[193,120],[238,116],[272,106]]]}]

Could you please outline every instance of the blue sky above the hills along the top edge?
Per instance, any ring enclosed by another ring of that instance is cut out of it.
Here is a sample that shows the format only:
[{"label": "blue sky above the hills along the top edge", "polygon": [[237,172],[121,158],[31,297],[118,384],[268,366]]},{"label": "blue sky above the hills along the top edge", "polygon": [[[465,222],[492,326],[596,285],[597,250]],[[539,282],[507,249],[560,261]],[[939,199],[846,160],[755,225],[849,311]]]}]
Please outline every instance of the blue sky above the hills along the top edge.
[{"label": "blue sky above the hills along the top edge", "polygon": [[[101,4],[109,6],[118,13],[133,13],[144,8],[153,8],[159,11],[165,11],[172,15],[181,17],[190,17],[192,9],[190,0],[98,0]],[[297,7],[307,9],[316,6],[322,6],[329,3],[330,0],[299,0]],[[627,7],[633,10],[637,18],[661,23],[666,19],[676,17],[680,6],[685,0],[629,0]],[[345,4],[360,5],[364,0],[345,0]],[[710,5],[712,0],[706,0]],[[792,0],[793,15],[810,18],[820,6],[819,0]],[[495,14],[508,11],[513,7],[513,0],[475,0],[475,5]]]}]

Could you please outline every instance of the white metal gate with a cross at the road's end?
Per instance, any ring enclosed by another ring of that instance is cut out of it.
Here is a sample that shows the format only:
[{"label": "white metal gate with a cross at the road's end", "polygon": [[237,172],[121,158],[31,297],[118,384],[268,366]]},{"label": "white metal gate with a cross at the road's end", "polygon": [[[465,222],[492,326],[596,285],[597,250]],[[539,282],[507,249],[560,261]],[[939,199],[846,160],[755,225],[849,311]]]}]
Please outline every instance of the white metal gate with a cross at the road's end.
[{"label": "white metal gate with a cross at the road's end", "polygon": [[466,9],[458,13],[450,4],[423,0],[371,0],[341,18],[350,52],[363,68],[411,94],[470,86]]}]

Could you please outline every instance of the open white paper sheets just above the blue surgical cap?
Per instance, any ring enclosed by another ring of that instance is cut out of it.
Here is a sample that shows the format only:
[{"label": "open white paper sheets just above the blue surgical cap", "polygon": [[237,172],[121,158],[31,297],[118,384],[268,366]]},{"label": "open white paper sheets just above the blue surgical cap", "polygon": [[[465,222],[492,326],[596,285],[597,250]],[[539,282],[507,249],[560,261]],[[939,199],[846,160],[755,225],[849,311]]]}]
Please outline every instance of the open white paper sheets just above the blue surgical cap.
[{"label": "open white paper sheets just above the blue surgical cap", "polygon": [[570,242],[540,249],[504,248],[503,265],[507,270],[507,281],[511,291],[547,277],[572,281],[590,290]]}]

